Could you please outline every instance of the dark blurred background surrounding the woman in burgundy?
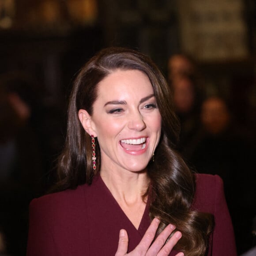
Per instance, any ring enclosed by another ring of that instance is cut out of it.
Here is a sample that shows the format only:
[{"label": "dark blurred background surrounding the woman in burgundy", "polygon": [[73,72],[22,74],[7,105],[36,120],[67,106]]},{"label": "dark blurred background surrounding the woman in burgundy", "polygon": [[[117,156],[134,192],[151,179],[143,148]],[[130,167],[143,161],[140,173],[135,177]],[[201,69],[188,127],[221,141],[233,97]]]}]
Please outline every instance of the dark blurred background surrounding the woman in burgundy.
[{"label": "dark blurred background surrounding the woman in burgundy", "polygon": [[255,0],[0,0],[0,253],[25,255],[28,204],[54,182],[72,79],[106,46],[158,64],[179,150],[222,177],[238,253],[255,246]]}]

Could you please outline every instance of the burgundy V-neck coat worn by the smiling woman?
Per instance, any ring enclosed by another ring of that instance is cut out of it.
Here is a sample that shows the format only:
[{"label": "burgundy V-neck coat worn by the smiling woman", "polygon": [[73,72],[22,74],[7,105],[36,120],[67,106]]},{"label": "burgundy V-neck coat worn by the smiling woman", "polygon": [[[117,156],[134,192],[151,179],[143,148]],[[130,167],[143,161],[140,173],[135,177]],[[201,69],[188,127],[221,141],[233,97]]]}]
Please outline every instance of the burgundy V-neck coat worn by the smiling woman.
[{"label": "burgundy V-neck coat worn by the smiling woman", "polygon": [[[197,174],[193,208],[215,216],[207,256],[236,256],[230,214],[222,180]],[[81,185],[34,199],[30,203],[27,256],[114,256],[119,231],[129,236],[128,252],[139,244],[150,225],[148,204],[139,229],[132,225],[100,176]],[[177,252],[171,252],[174,256]]]}]

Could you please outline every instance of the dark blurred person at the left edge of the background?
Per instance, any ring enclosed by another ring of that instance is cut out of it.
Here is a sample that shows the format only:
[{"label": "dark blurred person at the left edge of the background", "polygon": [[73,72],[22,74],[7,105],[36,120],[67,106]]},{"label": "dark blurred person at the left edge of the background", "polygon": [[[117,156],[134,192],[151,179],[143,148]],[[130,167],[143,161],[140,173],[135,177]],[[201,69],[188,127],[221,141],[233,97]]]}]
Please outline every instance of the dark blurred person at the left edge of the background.
[{"label": "dark blurred person at the left edge of the background", "polygon": [[42,162],[35,132],[38,98],[21,72],[0,76],[0,227],[6,252],[24,255],[28,204],[41,193]]}]

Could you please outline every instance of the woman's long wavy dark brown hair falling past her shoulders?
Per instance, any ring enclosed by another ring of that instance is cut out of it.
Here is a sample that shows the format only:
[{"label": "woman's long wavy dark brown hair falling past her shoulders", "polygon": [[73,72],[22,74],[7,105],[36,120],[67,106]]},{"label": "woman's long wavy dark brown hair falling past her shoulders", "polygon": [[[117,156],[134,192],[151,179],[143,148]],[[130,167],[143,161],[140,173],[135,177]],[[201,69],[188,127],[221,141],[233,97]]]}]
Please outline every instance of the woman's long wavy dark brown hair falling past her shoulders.
[{"label": "woman's long wavy dark brown hair falling past her shoulders", "polygon": [[91,138],[78,117],[79,109],[92,115],[97,98],[98,83],[115,70],[139,70],[145,73],[154,89],[162,117],[161,138],[154,152],[154,162],[147,166],[151,179],[150,217],[161,219],[160,233],[172,223],[182,233],[176,248],[188,256],[204,255],[213,227],[212,216],[190,209],[195,192],[194,175],[175,151],[180,125],[173,108],[171,92],[162,72],[142,53],[124,48],[107,48],[85,64],[77,75],[68,106],[67,138],[58,162],[57,189],[76,188],[91,184],[100,171],[100,149],[96,140],[96,169],[92,168]]}]

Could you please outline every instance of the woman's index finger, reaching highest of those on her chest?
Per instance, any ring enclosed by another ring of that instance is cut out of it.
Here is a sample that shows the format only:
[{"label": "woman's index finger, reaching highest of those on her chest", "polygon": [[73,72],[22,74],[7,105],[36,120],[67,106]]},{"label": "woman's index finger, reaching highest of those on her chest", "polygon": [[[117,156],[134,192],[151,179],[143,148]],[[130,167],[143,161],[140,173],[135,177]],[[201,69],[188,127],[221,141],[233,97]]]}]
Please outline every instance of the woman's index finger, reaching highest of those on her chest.
[{"label": "woman's index finger, reaching highest of those on her chest", "polygon": [[148,248],[150,247],[152,241],[154,240],[155,233],[158,229],[160,220],[158,218],[154,218],[148,227],[146,233],[142,237],[139,245],[134,249],[138,255],[145,255]]}]

